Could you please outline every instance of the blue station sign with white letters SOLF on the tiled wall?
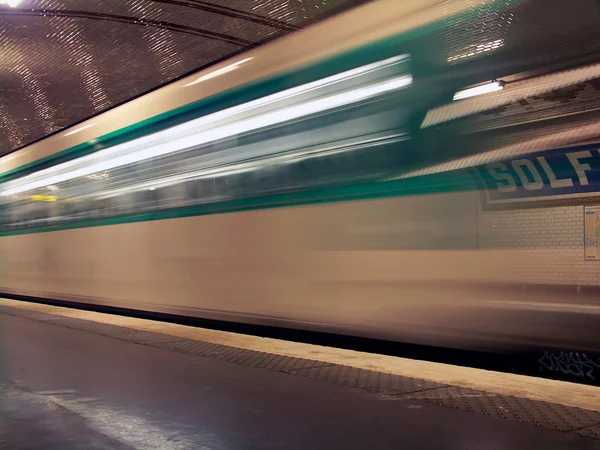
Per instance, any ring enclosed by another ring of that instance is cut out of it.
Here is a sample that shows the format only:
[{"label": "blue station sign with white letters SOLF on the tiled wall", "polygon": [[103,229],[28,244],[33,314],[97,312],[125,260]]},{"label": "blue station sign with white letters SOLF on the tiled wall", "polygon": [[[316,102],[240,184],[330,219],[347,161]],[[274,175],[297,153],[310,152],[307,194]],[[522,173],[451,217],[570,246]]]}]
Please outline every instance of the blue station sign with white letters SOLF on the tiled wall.
[{"label": "blue station sign with white letters SOLF on the tiled wall", "polygon": [[531,153],[477,172],[492,205],[600,195],[600,145]]}]

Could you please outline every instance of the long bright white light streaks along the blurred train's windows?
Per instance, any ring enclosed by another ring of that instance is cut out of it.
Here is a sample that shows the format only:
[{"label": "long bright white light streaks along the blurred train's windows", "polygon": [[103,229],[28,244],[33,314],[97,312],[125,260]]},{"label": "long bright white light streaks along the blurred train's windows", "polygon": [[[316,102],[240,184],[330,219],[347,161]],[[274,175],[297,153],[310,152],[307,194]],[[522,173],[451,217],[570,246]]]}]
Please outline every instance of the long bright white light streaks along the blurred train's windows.
[{"label": "long bright white light streaks along the blurred train's windows", "polygon": [[[340,87],[337,87],[338,92],[329,93],[329,95],[323,92],[315,98],[320,92],[318,89],[329,88],[328,92],[331,92],[339,82],[353,80],[360,75],[370,74],[378,69],[389,68],[406,60],[406,56],[399,56],[379,61],[209,114],[73,161],[58,164],[15,181],[5,183],[1,195],[19,194],[50,184],[59,184],[67,180],[105,172],[117,167],[182,150],[189,150],[238,134],[282,124],[312,114],[367,100],[385,92],[401,89],[412,83],[411,75],[397,75],[392,77],[391,74],[388,74],[387,79],[383,81],[371,81],[369,84],[368,80],[365,80],[360,87],[354,86],[353,88],[341,91],[339,91]],[[306,94],[306,96],[312,96],[312,98],[296,98],[300,94]],[[287,104],[277,108],[278,102],[290,99],[293,101],[287,102]],[[261,109],[263,112],[261,112]],[[248,112],[252,114],[248,114]]]}]

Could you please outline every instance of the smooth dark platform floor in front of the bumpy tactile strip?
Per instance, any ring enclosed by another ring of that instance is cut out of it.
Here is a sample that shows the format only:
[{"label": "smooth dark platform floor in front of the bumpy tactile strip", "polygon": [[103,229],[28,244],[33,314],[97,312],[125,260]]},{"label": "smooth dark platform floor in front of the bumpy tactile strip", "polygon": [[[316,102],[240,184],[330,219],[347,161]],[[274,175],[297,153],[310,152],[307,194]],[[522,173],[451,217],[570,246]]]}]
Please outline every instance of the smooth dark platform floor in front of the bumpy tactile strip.
[{"label": "smooth dark platform floor in front of the bumpy tactile strip", "polygon": [[0,448],[600,449],[600,441],[0,315]]}]

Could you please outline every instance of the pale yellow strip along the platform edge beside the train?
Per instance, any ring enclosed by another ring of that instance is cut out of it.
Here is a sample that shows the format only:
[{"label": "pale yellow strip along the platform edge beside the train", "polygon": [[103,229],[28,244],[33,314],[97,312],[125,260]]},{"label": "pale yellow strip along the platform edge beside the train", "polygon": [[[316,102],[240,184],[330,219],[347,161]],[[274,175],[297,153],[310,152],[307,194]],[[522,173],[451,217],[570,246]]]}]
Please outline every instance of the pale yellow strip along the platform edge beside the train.
[{"label": "pale yellow strip along the platform edge beside the train", "polygon": [[600,387],[0,299],[0,305],[600,411]]}]

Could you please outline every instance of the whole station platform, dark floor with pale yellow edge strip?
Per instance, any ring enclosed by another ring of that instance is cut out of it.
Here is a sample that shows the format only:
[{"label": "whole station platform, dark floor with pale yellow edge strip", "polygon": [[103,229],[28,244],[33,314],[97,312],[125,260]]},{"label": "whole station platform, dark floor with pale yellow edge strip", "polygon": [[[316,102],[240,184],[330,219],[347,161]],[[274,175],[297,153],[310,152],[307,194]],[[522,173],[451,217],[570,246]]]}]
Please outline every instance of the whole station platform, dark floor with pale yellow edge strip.
[{"label": "whole station platform, dark floor with pale yellow edge strip", "polygon": [[600,449],[600,389],[0,300],[6,449]]}]

